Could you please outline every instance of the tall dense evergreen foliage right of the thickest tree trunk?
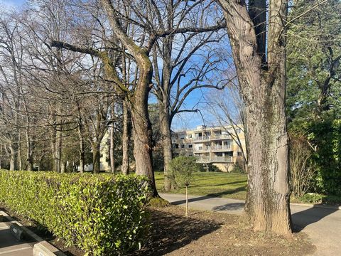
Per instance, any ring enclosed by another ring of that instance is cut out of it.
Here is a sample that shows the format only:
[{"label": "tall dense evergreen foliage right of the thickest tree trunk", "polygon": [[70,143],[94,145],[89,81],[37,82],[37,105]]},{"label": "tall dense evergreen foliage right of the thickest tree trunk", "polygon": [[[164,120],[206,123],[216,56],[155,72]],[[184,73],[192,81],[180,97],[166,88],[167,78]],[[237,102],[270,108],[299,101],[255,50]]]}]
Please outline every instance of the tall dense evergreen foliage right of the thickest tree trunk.
[{"label": "tall dense evergreen foliage right of the thickest tree trunk", "polygon": [[289,12],[288,130],[314,151],[310,191],[341,194],[341,2],[316,4],[295,0]]}]

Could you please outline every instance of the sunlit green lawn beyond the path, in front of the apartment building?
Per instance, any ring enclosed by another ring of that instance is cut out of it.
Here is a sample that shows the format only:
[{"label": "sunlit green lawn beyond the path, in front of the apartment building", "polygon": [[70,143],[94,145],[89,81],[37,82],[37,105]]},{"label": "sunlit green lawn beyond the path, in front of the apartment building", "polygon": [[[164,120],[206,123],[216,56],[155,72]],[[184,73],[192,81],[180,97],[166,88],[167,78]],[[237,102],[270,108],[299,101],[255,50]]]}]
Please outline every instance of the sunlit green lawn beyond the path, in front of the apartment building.
[{"label": "sunlit green lawn beyond the path, in front of the apartment building", "polygon": [[[189,188],[190,195],[244,200],[247,194],[247,174],[198,172],[193,176]],[[163,192],[163,172],[155,172],[155,181],[158,191]],[[185,193],[185,188],[179,188],[171,193]]]}]

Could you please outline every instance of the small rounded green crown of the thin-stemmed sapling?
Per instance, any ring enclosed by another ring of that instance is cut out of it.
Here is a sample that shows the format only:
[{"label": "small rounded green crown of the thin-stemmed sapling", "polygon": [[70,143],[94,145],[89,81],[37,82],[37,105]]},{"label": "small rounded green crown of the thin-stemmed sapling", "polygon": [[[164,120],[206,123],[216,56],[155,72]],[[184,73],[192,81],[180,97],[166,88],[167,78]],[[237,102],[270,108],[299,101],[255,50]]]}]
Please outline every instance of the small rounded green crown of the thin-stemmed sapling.
[{"label": "small rounded green crown of the thin-stemmed sapling", "polygon": [[171,161],[170,170],[177,186],[190,186],[193,173],[200,171],[200,164],[196,161],[194,156],[178,156]]}]

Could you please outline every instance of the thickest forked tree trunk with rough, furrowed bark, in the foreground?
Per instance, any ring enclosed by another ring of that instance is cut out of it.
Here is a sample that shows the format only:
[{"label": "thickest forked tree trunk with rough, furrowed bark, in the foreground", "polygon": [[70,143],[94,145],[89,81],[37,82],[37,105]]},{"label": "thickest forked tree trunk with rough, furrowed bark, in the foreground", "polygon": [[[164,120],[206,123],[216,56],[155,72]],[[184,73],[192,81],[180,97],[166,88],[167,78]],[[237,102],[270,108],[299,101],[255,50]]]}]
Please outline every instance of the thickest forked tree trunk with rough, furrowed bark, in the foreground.
[{"label": "thickest forked tree trunk with rough, furrowed bark, in the foreground", "polygon": [[[256,34],[254,28],[259,26],[251,20],[244,2],[220,0],[220,4],[246,110],[249,181],[244,213],[254,230],[288,234],[291,215],[285,114],[285,21],[282,20],[286,18],[286,1],[269,3],[267,44],[265,36]],[[262,4],[254,4],[257,6]],[[266,15],[265,10],[261,12]],[[264,63],[264,47],[259,47],[259,43],[267,45],[267,63]]]}]

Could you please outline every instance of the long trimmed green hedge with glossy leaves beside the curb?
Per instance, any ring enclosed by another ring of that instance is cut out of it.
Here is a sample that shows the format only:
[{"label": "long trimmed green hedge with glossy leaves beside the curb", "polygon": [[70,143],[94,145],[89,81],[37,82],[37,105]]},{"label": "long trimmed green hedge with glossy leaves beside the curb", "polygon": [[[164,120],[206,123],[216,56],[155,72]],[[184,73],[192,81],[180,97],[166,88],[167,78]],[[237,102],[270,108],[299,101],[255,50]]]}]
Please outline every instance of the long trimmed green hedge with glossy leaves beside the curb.
[{"label": "long trimmed green hedge with glossy leaves beside the curb", "polygon": [[0,171],[0,201],[93,255],[141,246],[148,188],[141,176]]}]

